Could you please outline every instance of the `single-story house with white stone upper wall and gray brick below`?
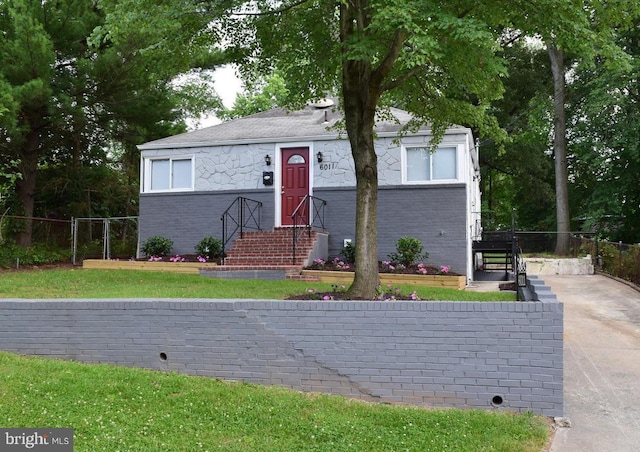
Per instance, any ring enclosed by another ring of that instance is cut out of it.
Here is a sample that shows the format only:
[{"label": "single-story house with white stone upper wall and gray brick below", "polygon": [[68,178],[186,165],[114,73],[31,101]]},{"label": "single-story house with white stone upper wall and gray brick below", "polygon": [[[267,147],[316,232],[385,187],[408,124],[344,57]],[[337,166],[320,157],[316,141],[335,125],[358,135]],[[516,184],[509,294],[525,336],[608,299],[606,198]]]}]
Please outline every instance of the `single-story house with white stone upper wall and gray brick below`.
[{"label": "single-story house with white stone upper wall and gray brick below", "polygon": [[[472,278],[472,241],[480,234],[477,148],[471,130],[451,127],[435,152],[421,128],[399,137],[407,112],[377,123],[378,250],[384,260],[400,237],[419,238],[428,263]],[[222,235],[222,213],[238,197],[260,201],[263,228],[287,227],[305,194],[326,201],[328,256],[355,239],[355,172],[349,142],[336,130],[332,101],[302,111],[282,109],[144,143],[139,240],[174,241],[193,253]]]}]

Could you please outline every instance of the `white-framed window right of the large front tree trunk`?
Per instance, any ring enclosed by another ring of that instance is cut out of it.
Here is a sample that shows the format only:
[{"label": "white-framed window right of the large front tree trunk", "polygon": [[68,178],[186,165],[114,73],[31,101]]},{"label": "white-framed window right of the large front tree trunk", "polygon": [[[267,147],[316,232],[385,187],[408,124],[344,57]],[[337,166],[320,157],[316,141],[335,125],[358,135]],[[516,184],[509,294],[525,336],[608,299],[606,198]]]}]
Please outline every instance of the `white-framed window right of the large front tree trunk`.
[{"label": "white-framed window right of the large front tree trunk", "polygon": [[455,146],[405,148],[404,180],[406,183],[455,181],[458,179],[458,152]]}]

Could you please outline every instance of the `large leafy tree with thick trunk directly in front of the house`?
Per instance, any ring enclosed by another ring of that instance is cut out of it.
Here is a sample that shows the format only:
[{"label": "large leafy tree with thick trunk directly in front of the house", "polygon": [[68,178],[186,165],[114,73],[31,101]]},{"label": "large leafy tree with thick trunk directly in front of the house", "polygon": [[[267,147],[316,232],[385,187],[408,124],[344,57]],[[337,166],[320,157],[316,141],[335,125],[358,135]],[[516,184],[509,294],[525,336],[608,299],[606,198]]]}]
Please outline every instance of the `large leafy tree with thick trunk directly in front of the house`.
[{"label": "large leafy tree with thick trunk directly in front of the house", "polygon": [[229,37],[244,47],[246,72],[280,70],[292,105],[326,92],[342,99],[357,181],[349,291],[366,298],[378,280],[376,115],[400,106],[414,114],[408,130],[430,123],[436,140],[454,123],[500,135],[488,114],[503,93],[499,38],[510,29],[579,30],[583,10],[556,1],[308,0],[255,1],[236,13]]}]

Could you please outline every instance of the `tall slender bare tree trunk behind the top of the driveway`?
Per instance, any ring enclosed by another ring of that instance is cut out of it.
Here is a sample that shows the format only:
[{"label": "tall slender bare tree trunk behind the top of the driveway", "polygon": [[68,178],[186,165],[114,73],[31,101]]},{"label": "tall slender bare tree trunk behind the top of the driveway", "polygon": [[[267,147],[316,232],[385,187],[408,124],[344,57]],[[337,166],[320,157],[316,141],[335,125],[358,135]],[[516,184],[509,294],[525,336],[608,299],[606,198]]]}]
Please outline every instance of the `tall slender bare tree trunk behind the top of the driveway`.
[{"label": "tall slender bare tree trunk behind the top of the driveway", "polygon": [[567,178],[567,137],[565,119],[566,86],[564,78],[564,53],[552,44],[547,45],[551,72],[553,73],[553,154],[556,170],[556,221],[558,241],[556,254],[569,254],[569,188]]}]

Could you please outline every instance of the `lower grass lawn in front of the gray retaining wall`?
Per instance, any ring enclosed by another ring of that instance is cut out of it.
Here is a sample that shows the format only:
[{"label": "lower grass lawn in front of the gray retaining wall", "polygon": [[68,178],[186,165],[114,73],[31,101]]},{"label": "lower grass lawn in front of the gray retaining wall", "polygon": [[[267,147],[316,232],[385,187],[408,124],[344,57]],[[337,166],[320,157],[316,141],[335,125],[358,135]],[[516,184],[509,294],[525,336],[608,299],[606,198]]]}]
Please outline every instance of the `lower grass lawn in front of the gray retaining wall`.
[{"label": "lower grass lawn in front of the gray retaining wall", "polygon": [[540,451],[546,419],[430,410],[0,352],[0,427],[82,451]]}]

